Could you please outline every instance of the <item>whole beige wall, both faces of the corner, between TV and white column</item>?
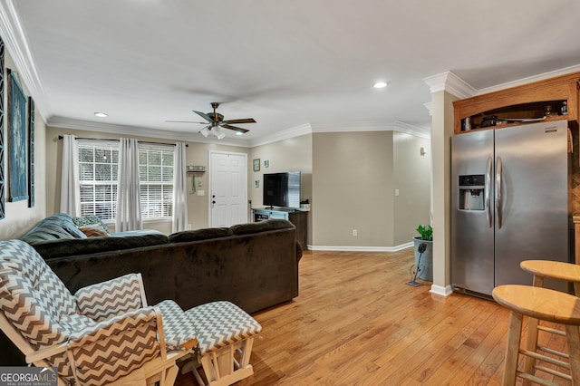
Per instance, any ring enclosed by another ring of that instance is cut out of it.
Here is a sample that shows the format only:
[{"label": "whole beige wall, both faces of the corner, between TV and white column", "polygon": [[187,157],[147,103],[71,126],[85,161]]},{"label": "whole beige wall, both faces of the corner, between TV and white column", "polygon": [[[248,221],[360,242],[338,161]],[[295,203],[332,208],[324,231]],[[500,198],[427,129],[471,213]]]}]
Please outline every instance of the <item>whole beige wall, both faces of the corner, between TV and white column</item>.
[{"label": "whole beige wall, both faces of the corner, between TV and white column", "polygon": [[315,133],[314,248],[410,243],[429,223],[430,158],[421,147],[429,140],[396,131]]}]

